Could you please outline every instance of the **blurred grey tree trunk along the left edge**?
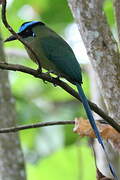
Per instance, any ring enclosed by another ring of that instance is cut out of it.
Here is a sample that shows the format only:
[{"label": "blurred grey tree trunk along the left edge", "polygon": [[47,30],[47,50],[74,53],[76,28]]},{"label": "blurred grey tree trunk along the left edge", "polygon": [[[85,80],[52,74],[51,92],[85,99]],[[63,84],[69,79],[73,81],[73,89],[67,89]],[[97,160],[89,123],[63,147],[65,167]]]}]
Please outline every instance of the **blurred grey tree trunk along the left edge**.
[{"label": "blurred grey tree trunk along the left edge", "polygon": [[[5,55],[0,37],[0,62]],[[0,70],[0,127],[15,126],[16,112],[7,71]],[[18,133],[0,134],[0,180],[25,180],[25,168]]]}]

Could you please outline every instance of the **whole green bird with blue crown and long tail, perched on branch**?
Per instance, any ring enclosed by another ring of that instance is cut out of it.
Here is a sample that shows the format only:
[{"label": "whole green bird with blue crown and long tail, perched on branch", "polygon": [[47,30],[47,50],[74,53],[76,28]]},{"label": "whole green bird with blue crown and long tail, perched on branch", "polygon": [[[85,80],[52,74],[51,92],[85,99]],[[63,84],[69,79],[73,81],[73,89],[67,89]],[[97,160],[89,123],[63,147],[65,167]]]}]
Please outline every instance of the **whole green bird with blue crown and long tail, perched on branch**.
[{"label": "whole green bird with blue crown and long tail, perched on branch", "polygon": [[[28,43],[28,45],[32,47],[33,51],[39,57],[41,66],[44,69],[48,70],[49,72],[53,72],[59,77],[64,77],[69,82],[76,85],[90,124],[106,154],[102,137],[100,136],[90,106],[88,104],[88,100],[82,89],[82,75],[80,65],[71,47],[62,37],[60,37],[57,33],[55,33],[40,21],[25,22],[21,25],[18,34]],[[12,40],[16,40],[16,37],[13,35],[7,38],[5,42]],[[27,49],[27,47],[25,48],[30,58],[39,64],[36,58],[32,55],[31,51]],[[110,163],[109,167],[111,173],[117,180],[116,174],[114,173]]]}]

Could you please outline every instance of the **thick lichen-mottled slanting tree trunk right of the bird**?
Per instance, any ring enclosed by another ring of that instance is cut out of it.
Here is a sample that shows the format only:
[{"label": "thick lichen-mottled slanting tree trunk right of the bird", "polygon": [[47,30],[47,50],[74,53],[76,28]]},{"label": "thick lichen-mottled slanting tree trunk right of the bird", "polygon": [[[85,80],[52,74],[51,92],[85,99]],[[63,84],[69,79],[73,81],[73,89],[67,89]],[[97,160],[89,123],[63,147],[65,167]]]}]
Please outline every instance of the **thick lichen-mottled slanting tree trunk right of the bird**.
[{"label": "thick lichen-mottled slanting tree trunk right of the bird", "polygon": [[[100,0],[68,0],[89,59],[98,76],[99,89],[107,112],[120,122],[120,54],[117,42],[107,24]],[[109,159],[120,179],[120,155],[105,143]],[[103,175],[112,178],[100,145],[95,146],[97,166]]]}]

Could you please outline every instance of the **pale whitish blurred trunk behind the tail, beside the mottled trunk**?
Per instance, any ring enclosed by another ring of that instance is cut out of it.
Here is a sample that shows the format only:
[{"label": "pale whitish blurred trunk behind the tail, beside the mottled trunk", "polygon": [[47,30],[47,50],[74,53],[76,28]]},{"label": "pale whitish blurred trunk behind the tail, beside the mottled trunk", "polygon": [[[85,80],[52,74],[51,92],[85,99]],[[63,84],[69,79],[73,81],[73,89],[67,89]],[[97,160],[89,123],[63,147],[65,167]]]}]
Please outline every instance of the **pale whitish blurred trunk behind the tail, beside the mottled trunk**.
[{"label": "pale whitish blurred trunk behind the tail, beside the mottled trunk", "polygon": [[[93,70],[92,66],[89,66],[89,76],[90,76],[90,80],[91,80],[91,94],[92,94],[92,101],[95,102],[96,104],[98,104],[102,109],[104,109],[104,111],[107,112],[106,106],[104,104],[103,98],[101,96],[100,93],[100,89],[97,85],[98,82],[98,78],[97,78],[97,73]],[[100,117],[94,116],[95,118],[99,119]],[[119,157],[119,152],[116,151],[110,143],[106,143],[106,149],[108,151],[109,154],[109,158],[111,159],[112,164],[114,165],[114,168],[117,172],[117,174],[119,175],[119,163],[120,163],[120,157]],[[109,174],[109,168],[108,168],[108,164],[107,161],[105,160],[105,154],[100,146],[100,144],[98,143],[97,140],[94,140],[94,150],[95,150],[95,155],[96,155],[96,160],[97,160],[97,166],[99,168],[99,170],[101,172],[103,172],[104,175],[108,175],[108,177],[110,177]],[[99,170],[97,170],[97,179],[98,180],[110,180],[111,178],[105,177],[102,173],[99,172]]]}]

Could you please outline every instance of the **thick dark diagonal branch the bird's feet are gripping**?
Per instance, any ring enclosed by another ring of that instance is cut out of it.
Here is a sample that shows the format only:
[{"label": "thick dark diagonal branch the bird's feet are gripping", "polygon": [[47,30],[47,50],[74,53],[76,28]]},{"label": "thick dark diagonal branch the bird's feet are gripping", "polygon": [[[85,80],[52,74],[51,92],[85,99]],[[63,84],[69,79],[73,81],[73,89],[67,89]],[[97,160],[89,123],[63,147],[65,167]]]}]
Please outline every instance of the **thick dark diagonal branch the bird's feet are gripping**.
[{"label": "thick dark diagonal branch the bird's feet are gripping", "polygon": [[[43,81],[47,81],[50,83],[53,83],[55,85],[60,86],[62,89],[64,89],[66,92],[71,94],[76,99],[80,100],[80,97],[78,93],[71,88],[67,83],[61,81],[58,78],[51,77],[50,75],[46,73],[40,73],[37,70],[34,70],[32,68],[18,65],[18,64],[8,64],[8,63],[0,63],[0,69],[3,70],[12,70],[12,71],[19,71],[24,72],[26,74],[32,75],[36,78],[42,79]],[[108,116],[103,110],[101,110],[96,104],[94,104],[91,101],[88,101],[91,109],[96,112],[99,116],[101,116],[105,121],[107,121],[113,128],[115,128],[118,132],[120,132],[120,125],[117,124],[114,119],[112,119],[110,116]]]}]

